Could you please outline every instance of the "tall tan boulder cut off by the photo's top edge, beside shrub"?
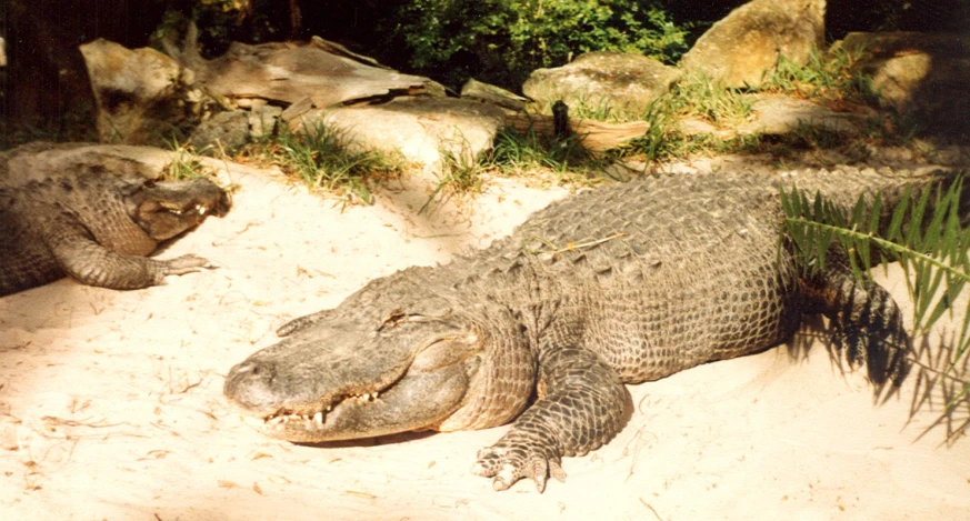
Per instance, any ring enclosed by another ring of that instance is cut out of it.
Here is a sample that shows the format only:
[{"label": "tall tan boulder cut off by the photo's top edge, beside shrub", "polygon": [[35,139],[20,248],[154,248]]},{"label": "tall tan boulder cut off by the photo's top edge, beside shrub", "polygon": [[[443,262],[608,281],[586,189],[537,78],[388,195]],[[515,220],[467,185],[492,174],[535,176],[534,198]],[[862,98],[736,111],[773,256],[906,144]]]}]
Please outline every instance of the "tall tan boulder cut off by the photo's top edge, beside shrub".
[{"label": "tall tan boulder cut off by the photo's top edge, beside shrub", "polygon": [[804,64],[824,43],[826,0],[754,0],[717,22],[683,56],[688,73],[758,87],[780,57]]}]

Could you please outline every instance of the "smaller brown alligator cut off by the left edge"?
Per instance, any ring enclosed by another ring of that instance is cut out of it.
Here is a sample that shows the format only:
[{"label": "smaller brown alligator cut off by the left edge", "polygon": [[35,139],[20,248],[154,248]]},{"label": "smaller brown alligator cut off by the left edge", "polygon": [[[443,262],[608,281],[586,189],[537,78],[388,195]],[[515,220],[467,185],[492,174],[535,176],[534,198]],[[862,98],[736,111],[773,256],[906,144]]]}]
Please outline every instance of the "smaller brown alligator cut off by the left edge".
[{"label": "smaller brown alligator cut off by the left edge", "polygon": [[67,275],[147,288],[208,264],[193,254],[146,256],[207,216],[223,216],[227,193],[203,178],[161,180],[122,149],[140,148],[30,143],[0,154],[0,295]]}]

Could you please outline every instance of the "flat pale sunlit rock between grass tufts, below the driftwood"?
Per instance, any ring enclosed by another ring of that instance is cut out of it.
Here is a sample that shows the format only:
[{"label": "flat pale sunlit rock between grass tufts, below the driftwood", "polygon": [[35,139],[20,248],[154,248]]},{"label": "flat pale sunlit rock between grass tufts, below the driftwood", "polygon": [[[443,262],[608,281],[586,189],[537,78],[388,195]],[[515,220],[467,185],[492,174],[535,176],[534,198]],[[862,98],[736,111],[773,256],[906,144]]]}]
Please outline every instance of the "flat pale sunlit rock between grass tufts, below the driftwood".
[{"label": "flat pale sunlit rock between grass tufts, below the driftwood", "polygon": [[321,122],[351,147],[400,153],[407,160],[433,166],[441,162],[442,152],[474,160],[490,150],[504,126],[504,113],[479,101],[413,97],[382,104],[313,109],[289,120],[289,126],[301,132]]}]

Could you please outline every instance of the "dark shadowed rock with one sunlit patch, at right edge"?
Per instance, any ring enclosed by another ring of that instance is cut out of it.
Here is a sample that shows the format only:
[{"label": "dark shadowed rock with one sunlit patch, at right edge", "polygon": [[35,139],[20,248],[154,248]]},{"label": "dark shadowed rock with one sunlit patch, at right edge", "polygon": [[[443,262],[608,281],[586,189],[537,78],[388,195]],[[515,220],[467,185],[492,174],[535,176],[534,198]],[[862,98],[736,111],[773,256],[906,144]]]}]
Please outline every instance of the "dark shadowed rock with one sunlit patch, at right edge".
[{"label": "dark shadowed rock with one sunlit patch, at right edge", "polygon": [[883,108],[918,129],[970,139],[970,40],[964,34],[849,33],[833,46],[861,53]]}]

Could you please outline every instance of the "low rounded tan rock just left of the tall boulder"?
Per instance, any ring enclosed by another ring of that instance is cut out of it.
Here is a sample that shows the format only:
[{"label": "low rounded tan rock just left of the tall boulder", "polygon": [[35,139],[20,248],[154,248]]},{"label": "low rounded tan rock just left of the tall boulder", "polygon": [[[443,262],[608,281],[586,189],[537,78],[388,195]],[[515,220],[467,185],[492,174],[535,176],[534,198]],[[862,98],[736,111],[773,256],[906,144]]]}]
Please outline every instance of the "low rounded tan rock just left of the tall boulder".
[{"label": "low rounded tan rock just left of the tall boulder", "polygon": [[613,112],[639,116],[679,76],[676,68],[644,56],[588,52],[566,66],[533,71],[522,92],[541,112],[562,100],[573,113],[608,107]]}]

